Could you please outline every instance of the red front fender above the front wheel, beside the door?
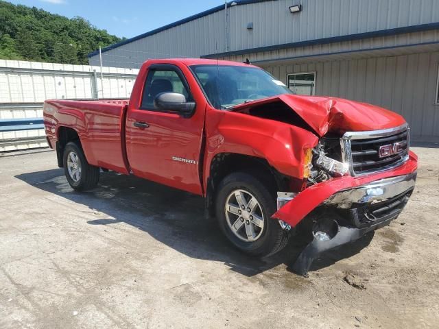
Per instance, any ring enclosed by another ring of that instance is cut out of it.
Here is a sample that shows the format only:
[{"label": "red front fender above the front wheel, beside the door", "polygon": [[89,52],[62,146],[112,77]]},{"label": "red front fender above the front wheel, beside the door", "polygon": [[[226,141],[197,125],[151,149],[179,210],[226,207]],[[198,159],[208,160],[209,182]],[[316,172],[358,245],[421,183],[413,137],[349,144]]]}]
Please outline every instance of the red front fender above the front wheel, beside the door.
[{"label": "red front fender above the front wheel, beside the door", "polygon": [[210,175],[215,155],[234,153],[263,158],[280,173],[301,179],[305,149],[317,143],[315,134],[294,125],[238,112],[209,110],[206,113],[205,177]]}]

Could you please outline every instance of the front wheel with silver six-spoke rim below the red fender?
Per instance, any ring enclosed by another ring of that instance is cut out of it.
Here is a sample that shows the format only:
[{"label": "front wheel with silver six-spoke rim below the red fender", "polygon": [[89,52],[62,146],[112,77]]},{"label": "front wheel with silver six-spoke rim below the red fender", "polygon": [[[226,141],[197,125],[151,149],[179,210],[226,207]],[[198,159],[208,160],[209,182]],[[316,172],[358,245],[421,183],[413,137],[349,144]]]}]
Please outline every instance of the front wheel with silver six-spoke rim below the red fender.
[{"label": "front wheel with silver six-spoke rim below the red fender", "polygon": [[270,256],[287,245],[288,234],[278,221],[274,192],[248,173],[231,173],[219,184],[215,212],[226,237],[252,256]]}]

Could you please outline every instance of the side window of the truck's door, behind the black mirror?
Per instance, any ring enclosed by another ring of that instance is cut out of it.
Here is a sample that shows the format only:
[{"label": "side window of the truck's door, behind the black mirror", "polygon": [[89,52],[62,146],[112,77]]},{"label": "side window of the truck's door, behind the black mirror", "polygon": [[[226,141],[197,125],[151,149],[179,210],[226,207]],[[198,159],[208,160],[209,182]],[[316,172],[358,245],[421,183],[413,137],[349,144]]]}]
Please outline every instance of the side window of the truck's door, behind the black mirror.
[{"label": "side window of the truck's door, behind the black mirror", "polygon": [[185,95],[187,101],[191,101],[191,95],[176,71],[151,70],[148,72],[143,88],[141,108],[153,109],[154,98],[165,92]]}]

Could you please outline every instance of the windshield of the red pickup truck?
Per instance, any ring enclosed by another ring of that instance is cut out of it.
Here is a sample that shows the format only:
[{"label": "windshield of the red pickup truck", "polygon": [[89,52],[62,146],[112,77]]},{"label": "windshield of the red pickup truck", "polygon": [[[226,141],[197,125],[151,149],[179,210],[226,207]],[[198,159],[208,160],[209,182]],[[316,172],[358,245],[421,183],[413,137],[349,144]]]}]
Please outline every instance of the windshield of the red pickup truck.
[{"label": "windshield of the red pickup truck", "polygon": [[293,94],[272,75],[251,66],[194,65],[191,69],[212,106],[232,108],[237,104],[281,94]]}]

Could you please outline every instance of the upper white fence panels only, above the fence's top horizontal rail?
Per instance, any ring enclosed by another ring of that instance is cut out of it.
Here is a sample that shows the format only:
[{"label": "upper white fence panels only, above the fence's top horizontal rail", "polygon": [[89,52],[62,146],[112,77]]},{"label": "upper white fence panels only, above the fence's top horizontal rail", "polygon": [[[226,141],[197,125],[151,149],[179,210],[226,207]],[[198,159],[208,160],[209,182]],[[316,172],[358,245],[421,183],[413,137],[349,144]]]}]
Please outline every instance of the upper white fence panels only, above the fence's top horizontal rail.
[{"label": "upper white fence panels only, above the fence's top horizontal rail", "polygon": [[[95,73],[96,71],[96,78]],[[130,97],[139,70],[99,66],[0,60],[0,103],[50,98]]]}]

